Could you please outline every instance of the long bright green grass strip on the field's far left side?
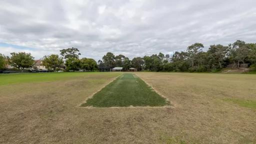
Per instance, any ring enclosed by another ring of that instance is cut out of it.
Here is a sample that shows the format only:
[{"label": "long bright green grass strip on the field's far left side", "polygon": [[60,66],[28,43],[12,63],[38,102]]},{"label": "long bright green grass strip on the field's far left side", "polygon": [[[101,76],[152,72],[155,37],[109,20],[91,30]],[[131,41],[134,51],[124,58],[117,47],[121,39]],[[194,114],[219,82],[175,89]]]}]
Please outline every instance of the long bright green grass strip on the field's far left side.
[{"label": "long bright green grass strip on the field's far left side", "polygon": [[26,83],[26,82],[43,82],[65,80],[81,77],[84,75],[94,75],[100,72],[49,72],[49,73],[9,73],[0,74],[0,85]]}]

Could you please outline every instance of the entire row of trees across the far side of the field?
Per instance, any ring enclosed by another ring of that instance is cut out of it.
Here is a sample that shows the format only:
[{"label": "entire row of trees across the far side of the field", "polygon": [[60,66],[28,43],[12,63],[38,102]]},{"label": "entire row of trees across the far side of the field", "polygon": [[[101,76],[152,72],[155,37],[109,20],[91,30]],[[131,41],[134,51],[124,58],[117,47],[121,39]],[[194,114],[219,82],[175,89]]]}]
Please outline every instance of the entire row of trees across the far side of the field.
[{"label": "entire row of trees across the far side of the field", "polygon": [[[134,57],[131,60],[122,55],[114,55],[107,52],[102,60],[97,62],[92,58],[79,58],[77,48],[66,48],[60,50],[60,54],[45,55],[42,58],[42,64],[49,70],[58,70],[65,67],[65,70],[76,71],[86,70],[108,71],[113,67],[123,67],[128,70],[130,67],[137,70],[148,71],[217,71],[227,65],[239,68],[241,63],[245,67],[248,63],[250,67],[256,67],[256,43],[246,43],[242,40],[236,40],[228,45],[214,44],[210,45],[206,51],[202,43],[189,45],[184,51],[175,51],[172,54],[152,54],[143,57]],[[12,66],[24,69],[32,67],[34,64],[33,56],[25,52],[12,52],[11,56],[5,56],[0,53],[0,69],[3,69],[6,63]],[[7,59],[7,60],[6,60]]]}]

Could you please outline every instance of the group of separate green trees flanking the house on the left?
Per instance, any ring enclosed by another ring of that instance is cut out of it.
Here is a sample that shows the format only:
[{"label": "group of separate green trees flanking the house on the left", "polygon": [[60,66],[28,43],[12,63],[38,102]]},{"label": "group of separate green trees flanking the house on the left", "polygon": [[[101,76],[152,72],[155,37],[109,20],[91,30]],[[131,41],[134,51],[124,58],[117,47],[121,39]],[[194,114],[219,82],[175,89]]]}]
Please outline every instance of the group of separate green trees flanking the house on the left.
[{"label": "group of separate green trees flanking the house on the left", "polygon": [[[10,57],[0,53],[0,69],[5,69],[6,64],[21,69],[31,68],[35,64],[34,57],[31,53],[26,52],[12,52]],[[42,58],[42,65],[48,70],[60,70],[65,67],[66,71],[97,70],[97,63],[92,58],[79,58],[79,50],[77,48],[66,48],[60,50],[60,54],[45,55]]]}]

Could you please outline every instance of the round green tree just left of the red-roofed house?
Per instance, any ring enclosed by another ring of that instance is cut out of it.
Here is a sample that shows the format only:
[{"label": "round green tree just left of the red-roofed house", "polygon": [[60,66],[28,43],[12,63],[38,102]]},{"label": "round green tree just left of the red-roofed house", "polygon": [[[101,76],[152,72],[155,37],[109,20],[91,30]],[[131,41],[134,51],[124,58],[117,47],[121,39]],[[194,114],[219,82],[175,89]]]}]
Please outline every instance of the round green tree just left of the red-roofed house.
[{"label": "round green tree just left of the red-roofed house", "polygon": [[30,53],[12,52],[10,54],[10,64],[16,68],[20,68],[22,71],[24,68],[32,67],[34,64],[34,57]]}]

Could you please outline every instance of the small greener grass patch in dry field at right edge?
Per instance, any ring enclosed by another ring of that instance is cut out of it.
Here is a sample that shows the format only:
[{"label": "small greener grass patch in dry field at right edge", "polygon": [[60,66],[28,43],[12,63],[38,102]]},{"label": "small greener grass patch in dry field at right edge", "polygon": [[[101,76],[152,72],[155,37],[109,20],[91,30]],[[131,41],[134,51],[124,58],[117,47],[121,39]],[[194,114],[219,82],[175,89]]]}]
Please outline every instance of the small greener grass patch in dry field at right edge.
[{"label": "small greener grass patch in dry field at right edge", "polygon": [[225,98],[224,101],[232,102],[243,107],[256,108],[256,100],[244,100],[235,98]]}]

